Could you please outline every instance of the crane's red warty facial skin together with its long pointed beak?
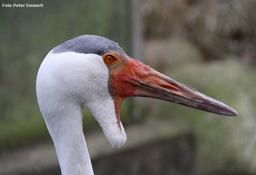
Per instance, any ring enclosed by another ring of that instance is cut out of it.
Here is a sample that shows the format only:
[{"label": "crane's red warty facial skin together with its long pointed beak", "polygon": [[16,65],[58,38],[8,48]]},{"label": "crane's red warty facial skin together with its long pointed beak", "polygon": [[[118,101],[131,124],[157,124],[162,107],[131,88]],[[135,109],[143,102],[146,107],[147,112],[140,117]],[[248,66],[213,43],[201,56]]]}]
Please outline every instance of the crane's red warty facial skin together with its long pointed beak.
[{"label": "crane's red warty facial skin together with its long pointed beak", "polygon": [[143,63],[127,58],[117,69],[111,69],[110,86],[114,97],[117,122],[120,125],[120,105],[129,96],[151,97],[221,115],[238,116],[224,103],[183,85]]}]

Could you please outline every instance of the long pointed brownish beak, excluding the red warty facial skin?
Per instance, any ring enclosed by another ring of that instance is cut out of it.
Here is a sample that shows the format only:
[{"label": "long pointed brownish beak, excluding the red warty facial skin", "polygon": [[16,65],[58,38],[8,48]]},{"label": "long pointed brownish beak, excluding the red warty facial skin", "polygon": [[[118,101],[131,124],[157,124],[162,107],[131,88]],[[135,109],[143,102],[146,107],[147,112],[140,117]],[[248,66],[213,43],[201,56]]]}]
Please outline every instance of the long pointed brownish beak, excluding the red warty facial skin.
[{"label": "long pointed brownish beak, excluding the red warty facial skin", "polygon": [[[139,72],[138,75],[140,75]],[[207,112],[238,116],[237,111],[224,103],[208,97],[153,69],[151,70],[151,75],[148,75],[146,80],[143,78],[139,78],[139,86],[134,96],[157,98]]]}]

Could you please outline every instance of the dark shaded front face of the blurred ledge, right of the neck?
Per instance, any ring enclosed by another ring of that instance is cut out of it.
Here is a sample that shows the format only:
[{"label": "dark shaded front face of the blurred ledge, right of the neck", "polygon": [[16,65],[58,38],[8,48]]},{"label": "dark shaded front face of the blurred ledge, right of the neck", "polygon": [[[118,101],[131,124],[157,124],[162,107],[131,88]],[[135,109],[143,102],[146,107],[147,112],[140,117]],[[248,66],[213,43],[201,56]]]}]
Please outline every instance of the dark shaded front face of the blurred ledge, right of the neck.
[{"label": "dark shaded front face of the blurred ledge, right of the neck", "polygon": [[95,174],[196,174],[193,132],[92,160]]}]

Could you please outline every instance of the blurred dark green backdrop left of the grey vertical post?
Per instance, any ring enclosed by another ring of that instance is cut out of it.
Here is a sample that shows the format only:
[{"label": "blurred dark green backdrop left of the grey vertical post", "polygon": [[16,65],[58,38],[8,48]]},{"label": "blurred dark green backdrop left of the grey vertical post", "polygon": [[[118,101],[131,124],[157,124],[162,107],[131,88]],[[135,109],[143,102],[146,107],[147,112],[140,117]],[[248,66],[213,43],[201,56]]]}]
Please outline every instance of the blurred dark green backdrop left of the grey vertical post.
[{"label": "blurred dark green backdrop left of the grey vertical post", "polygon": [[[43,8],[0,9],[0,150],[50,138],[37,104],[35,80],[41,62],[55,46],[94,34],[118,42],[130,53],[128,0],[36,3]],[[90,112],[85,110],[85,115]],[[98,126],[94,118],[86,119]]]}]

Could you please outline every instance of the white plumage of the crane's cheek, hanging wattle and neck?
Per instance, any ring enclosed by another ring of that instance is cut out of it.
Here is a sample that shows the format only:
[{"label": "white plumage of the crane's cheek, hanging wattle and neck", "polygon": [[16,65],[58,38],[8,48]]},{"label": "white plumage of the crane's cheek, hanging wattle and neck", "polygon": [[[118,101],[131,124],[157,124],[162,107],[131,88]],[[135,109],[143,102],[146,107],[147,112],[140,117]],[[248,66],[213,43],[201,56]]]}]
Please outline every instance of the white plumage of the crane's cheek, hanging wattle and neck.
[{"label": "white plumage of the crane's cheek, hanging wattle and neck", "polygon": [[82,131],[83,107],[101,126],[113,147],[126,142],[114,100],[109,93],[109,70],[97,54],[53,53],[43,60],[36,80],[40,110],[53,138],[62,174],[93,174]]}]

